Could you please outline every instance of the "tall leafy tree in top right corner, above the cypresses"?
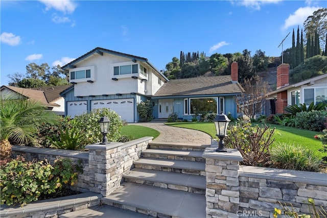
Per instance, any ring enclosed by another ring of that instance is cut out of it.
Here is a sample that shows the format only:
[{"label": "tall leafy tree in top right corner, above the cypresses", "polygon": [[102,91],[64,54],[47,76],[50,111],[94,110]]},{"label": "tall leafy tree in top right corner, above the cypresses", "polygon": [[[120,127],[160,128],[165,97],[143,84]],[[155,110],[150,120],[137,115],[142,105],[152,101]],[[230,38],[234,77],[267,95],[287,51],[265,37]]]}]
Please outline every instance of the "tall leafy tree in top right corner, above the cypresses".
[{"label": "tall leafy tree in top right corner, above the cypresses", "polygon": [[306,34],[311,36],[319,35],[319,41],[324,41],[324,36],[327,34],[327,8],[320,8],[313,12],[304,22],[303,27],[305,28]]}]

